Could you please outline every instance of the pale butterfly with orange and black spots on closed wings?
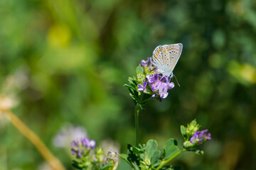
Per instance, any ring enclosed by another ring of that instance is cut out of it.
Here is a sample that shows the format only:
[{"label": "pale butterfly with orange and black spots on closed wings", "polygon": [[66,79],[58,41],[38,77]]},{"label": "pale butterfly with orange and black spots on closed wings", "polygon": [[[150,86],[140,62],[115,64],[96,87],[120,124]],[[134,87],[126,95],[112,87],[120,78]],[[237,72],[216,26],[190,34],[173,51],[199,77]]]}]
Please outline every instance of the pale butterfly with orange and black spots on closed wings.
[{"label": "pale butterfly with orange and black spots on closed wings", "polygon": [[171,45],[159,45],[152,56],[152,64],[159,69],[163,76],[174,77],[174,67],[181,56],[183,45],[181,43]]}]

